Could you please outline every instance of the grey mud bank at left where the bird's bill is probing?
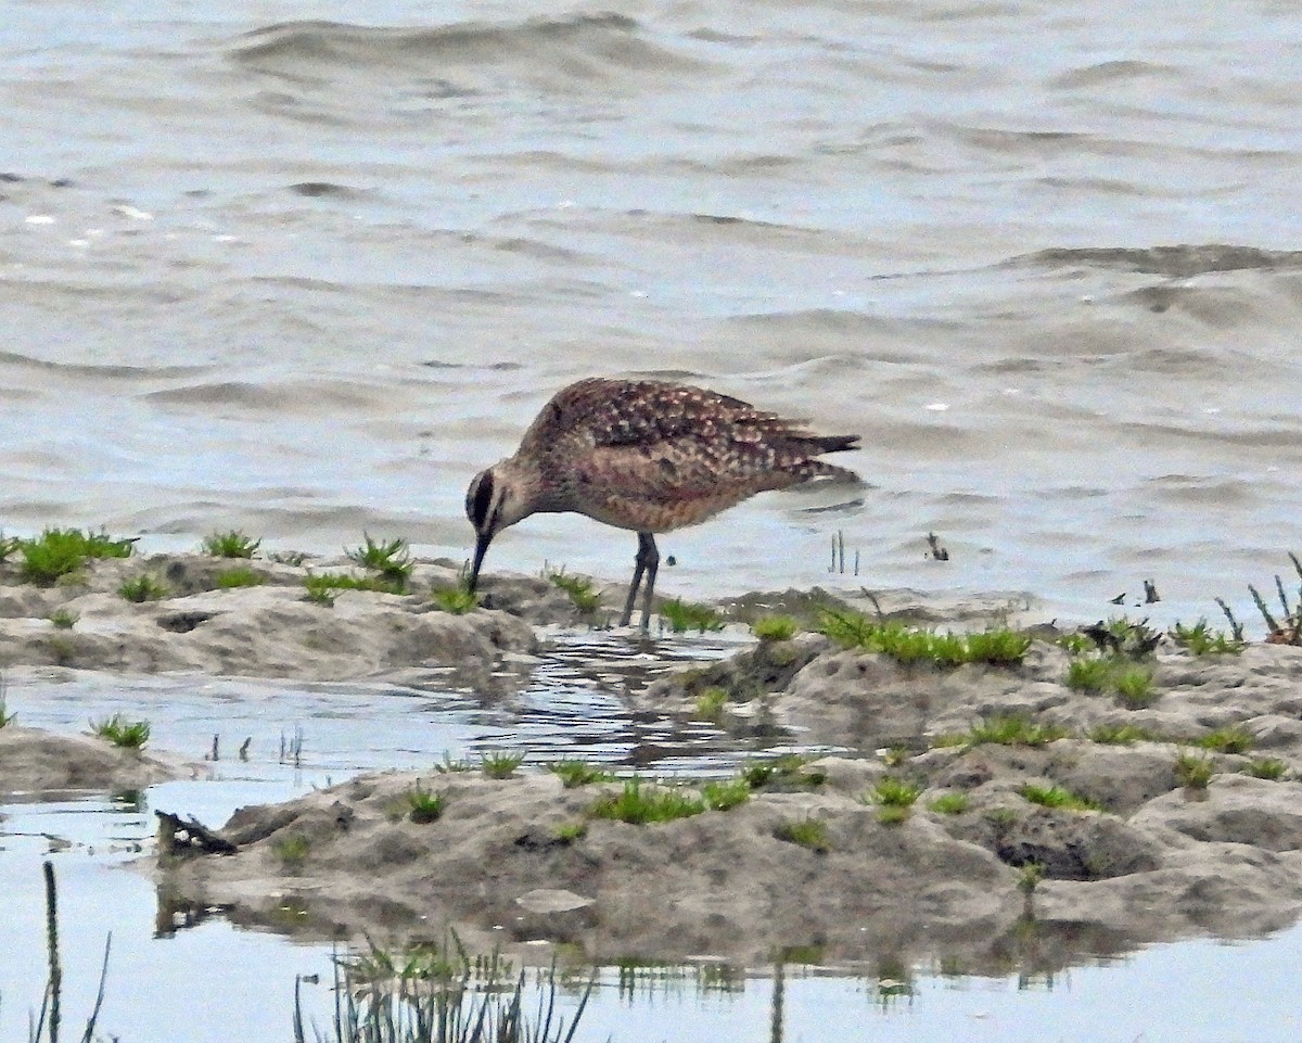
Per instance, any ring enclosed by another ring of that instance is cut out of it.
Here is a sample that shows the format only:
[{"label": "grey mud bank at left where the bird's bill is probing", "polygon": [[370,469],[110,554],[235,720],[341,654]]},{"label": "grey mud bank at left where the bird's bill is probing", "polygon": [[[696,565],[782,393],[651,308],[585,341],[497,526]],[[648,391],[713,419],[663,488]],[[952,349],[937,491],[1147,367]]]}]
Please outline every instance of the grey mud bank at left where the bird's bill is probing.
[{"label": "grey mud bank at left where the bird's bill is probing", "polygon": [[[250,585],[223,589],[237,570]],[[312,681],[456,667],[474,682],[504,655],[534,650],[526,620],[574,615],[565,595],[542,581],[499,592],[512,612],[441,611],[432,594],[456,585],[452,563],[417,563],[406,594],[339,590],[328,602],[309,599],[309,576],[337,573],[365,576],[346,559],[285,564],[152,555],[94,560],[38,586],[23,582],[16,564],[4,564],[0,663]],[[142,576],[161,585],[163,596],[135,603],[121,595],[124,582]],[[492,585],[487,591],[492,605]]]}]

